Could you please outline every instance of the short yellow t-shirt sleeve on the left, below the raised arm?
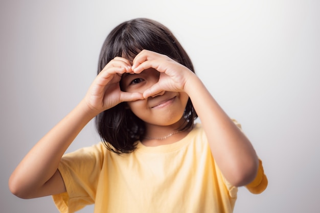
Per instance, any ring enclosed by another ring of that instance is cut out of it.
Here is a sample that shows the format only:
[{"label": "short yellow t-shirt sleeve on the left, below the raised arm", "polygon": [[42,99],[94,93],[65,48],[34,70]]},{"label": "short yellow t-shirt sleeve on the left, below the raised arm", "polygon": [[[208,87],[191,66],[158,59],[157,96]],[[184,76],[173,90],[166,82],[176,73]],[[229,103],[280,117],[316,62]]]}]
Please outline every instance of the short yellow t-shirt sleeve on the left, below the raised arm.
[{"label": "short yellow t-shirt sleeve on the left, below the raised arm", "polygon": [[62,157],[58,171],[64,181],[66,192],[52,196],[61,213],[75,212],[95,203],[102,167],[100,146],[102,145],[82,148]]}]

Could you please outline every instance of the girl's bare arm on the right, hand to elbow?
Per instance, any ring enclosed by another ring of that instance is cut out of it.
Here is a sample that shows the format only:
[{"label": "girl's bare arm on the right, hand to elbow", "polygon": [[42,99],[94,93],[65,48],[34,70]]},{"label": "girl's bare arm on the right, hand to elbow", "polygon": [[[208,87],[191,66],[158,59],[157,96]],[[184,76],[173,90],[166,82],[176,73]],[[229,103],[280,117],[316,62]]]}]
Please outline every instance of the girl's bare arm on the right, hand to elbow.
[{"label": "girl's bare arm on the right, hand to elbow", "polygon": [[158,83],[144,92],[144,97],[164,90],[186,92],[201,120],[211,152],[224,177],[235,186],[251,182],[258,169],[256,152],[201,80],[187,67],[161,54],[142,51],[133,60],[134,73],[150,67],[161,74]]}]

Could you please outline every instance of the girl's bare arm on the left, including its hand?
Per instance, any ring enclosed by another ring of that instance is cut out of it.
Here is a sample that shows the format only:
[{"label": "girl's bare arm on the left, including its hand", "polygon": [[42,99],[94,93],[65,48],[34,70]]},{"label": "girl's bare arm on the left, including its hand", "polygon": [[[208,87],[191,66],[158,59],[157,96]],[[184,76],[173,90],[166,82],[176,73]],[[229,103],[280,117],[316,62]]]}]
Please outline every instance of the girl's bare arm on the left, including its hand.
[{"label": "girl's bare arm on the left, including its hand", "polygon": [[85,98],[38,141],[13,171],[9,188],[14,195],[35,198],[66,191],[57,168],[82,128],[97,114],[120,102],[142,99],[140,93],[120,90],[121,75],[130,72],[130,62],[119,57],[104,67]]}]

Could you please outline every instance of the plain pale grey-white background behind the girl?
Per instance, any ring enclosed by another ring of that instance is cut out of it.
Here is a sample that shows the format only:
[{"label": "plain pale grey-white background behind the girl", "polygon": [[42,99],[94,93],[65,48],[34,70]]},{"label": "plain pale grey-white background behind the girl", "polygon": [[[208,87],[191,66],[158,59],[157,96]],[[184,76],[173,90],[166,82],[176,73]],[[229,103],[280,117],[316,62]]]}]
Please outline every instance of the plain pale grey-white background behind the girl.
[{"label": "plain pale grey-white background behind the girl", "polygon": [[[8,178],[84,96],[101,45],[120,22],[148,17],[173,31],[212,95],[263,160],[269,185],[239,188],[234,212],[316,212],[320,131],[319,1],[0,2],[0,212],[58,212],[22,200]],[[89,123],[67,151],[99,141]],[[92,212],[93,206],[79,212]]]}]

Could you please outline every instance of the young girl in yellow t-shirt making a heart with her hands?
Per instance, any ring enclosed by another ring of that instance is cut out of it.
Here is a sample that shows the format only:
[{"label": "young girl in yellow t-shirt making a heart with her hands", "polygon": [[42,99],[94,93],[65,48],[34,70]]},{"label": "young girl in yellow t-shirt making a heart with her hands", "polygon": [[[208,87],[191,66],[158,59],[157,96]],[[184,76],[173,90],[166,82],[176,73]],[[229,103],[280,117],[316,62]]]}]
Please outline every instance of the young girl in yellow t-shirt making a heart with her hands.
[{"label": "young girl in yellow t-shirt making a heart with her hands", "polygon": [[[94,212],[232,212],[238,186],[265,190],[252,144],[165,26],[121,23],[98,70],[84,99],[12,173],[13,194],[53,195],[60,212],[88,204]],[[63,155],[96,116],[103,143]]]}]

